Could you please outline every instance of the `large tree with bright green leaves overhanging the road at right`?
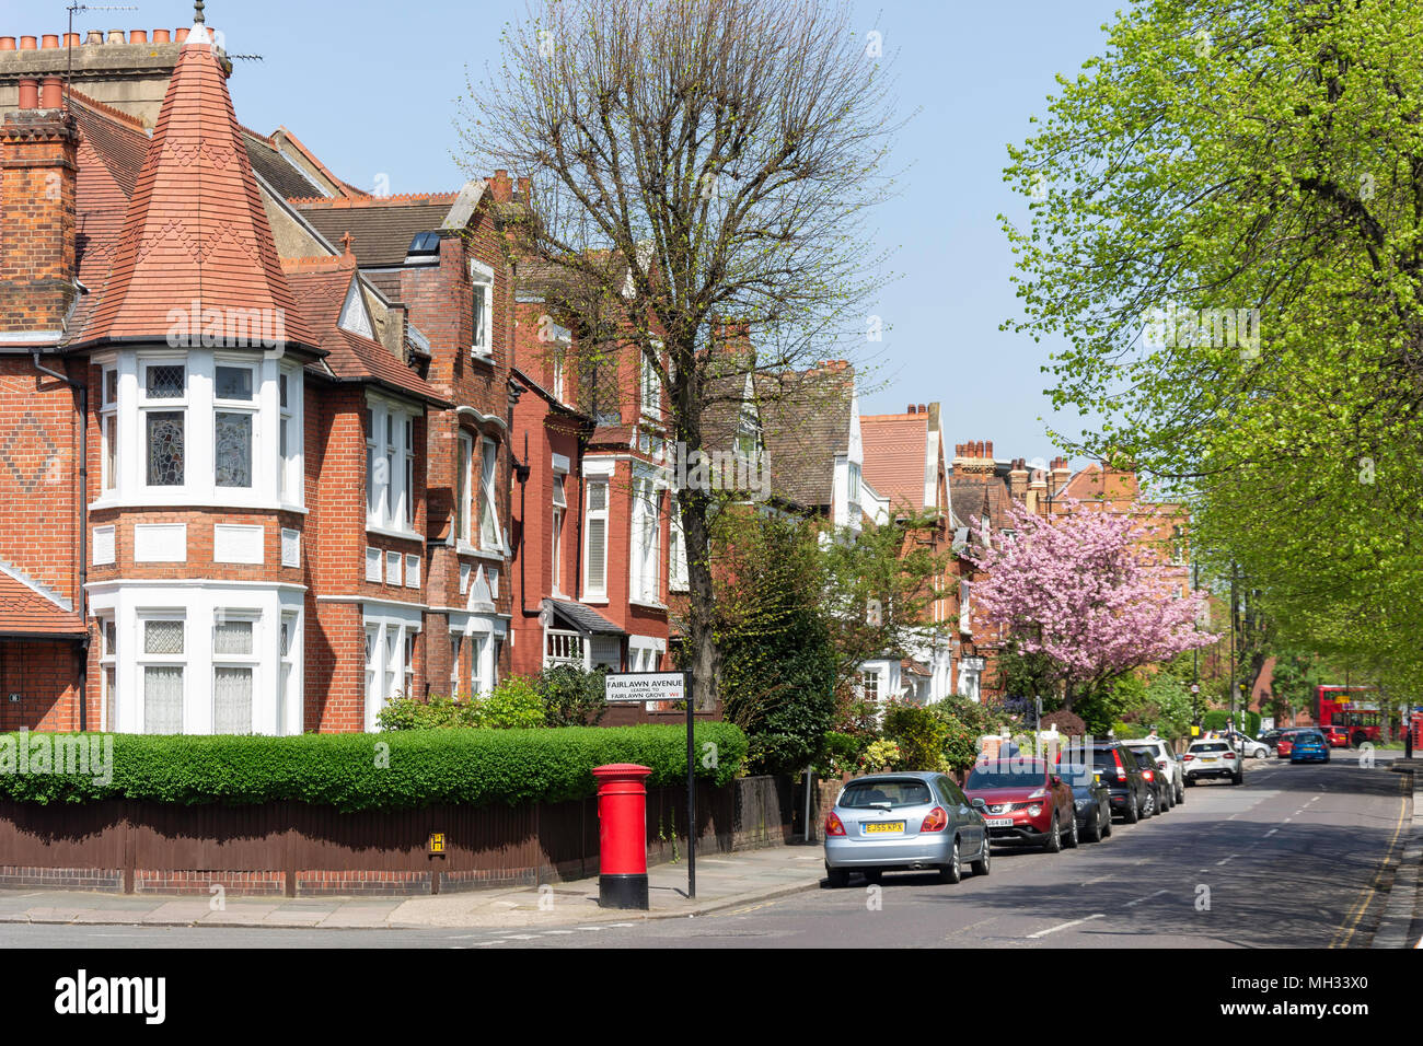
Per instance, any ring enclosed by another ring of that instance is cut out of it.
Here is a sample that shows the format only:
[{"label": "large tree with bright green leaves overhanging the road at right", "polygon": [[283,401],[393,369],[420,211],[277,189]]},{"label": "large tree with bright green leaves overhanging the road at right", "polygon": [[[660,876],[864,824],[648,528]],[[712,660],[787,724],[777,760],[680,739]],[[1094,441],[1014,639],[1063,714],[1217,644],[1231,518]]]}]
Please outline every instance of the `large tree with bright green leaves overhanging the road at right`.
[{"label": "large tree with bright green leaves overhanging the road at right", "polygon": [[[1423,686],[1423,6],[1137,0],[1010,148],[1057,407],[1278,640]],[[1247,676],[1247,682],[1249,676]]]}]

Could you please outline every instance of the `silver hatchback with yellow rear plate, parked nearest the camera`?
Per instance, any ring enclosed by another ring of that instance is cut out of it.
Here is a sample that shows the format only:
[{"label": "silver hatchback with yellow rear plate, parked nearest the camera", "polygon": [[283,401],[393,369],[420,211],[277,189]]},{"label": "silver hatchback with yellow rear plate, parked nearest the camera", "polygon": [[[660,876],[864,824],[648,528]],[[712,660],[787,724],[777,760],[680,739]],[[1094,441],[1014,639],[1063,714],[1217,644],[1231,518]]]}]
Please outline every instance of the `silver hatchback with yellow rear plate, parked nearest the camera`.
[{"label": "silver hatchback with yellow rear plate, parked nearest the camera", "polygon": [[825,815],[825,875],[831,887],[861,872],[878,882],[885,871],[935,870],[958,882],[963,861],[989,872],[989,838],[979,813],[952,780],[936,773],[857,777]]}]

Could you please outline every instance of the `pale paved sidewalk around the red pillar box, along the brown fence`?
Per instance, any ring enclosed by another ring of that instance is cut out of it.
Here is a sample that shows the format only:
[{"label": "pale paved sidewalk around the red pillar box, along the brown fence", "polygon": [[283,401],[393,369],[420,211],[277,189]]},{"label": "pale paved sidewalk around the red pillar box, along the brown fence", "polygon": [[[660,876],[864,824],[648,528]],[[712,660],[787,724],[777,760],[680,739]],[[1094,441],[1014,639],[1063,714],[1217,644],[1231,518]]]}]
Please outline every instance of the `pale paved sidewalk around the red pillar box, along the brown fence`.
[{"label": "pale paved sidewalk around the red pillar box, along the brown fence", "polygon": [[[629,924],[707,915],[814,889],[824,877],[818,845],[697,855],[697,895],[687,897],[684,861],[647,870],[649,911],[601,908],[598,879],[538,888],[478,889],[414,898],[270,898],[0,889],[0,924],[259,926],[287,929],[420,929]],[[568,932],[575,932],[569,929]]]}]

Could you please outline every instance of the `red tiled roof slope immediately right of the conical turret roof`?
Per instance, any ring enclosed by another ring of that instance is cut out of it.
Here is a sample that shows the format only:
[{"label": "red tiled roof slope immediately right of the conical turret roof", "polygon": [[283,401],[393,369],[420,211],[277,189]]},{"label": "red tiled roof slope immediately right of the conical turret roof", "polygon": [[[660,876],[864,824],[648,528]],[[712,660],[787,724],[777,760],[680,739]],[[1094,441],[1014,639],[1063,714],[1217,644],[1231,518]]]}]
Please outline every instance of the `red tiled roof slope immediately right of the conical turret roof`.
[{"label": "red tiled roof slope immediately right of the conical turret roof", "polygon": [[342,306],[356,275],[356,259],[289,258],[283,260],[296,307],[326,350],[322,363],[307,367],[340,381],[373,381],[435,404],[447,404],[438,389],[397,360],[386,346],[339,326]]}]

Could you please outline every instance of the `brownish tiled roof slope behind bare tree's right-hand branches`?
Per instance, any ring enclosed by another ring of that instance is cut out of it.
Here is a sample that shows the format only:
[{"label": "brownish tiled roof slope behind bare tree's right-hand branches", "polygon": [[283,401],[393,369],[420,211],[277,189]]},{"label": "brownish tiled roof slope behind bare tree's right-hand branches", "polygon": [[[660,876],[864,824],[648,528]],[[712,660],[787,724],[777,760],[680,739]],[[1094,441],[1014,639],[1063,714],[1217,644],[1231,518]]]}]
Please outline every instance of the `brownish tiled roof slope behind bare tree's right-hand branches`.
[{"label": "brownish tiled roof slope behind bare tree's right-hand branches", "polygon": [[807,508],[828,507],[834,500],[835,455],[850,453],[854,367],[831,363],[758,376],[756,394],[771,492]]}]

